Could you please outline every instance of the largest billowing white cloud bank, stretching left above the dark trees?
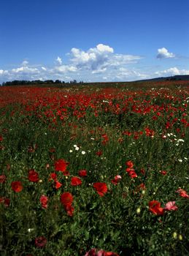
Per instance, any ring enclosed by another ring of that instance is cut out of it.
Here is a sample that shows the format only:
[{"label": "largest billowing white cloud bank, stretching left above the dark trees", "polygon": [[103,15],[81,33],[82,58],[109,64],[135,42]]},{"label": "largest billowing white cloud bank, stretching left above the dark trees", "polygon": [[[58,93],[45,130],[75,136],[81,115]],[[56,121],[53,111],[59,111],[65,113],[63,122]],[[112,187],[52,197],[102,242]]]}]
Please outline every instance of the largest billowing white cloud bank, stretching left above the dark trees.
[{"label": "largest billowing white cloud bank, stretching left above the dark trees", "polygon": [[[113,80],[120,67],[134,64],[142,59],[141,56],[117,54],[112,47],[104,44],[96,45],[96,47],[88,48],[88,50],[72,48],[67,56],[69,56],[69,60],[66,64],[63,64],[62,59],[58,56],[52,67],[44,67],[38,64],[30,65],[25,60],[20,67],[10,69],[7,73],[0,69],[1,81],[38,80],[39,78],[43,80],[69,80],[72,77],[76,80],[85,81]],[[130,72],[130,75],[133,74],[134,72]],[[126,78],[125,75],[120,75],[124,79]]]}]

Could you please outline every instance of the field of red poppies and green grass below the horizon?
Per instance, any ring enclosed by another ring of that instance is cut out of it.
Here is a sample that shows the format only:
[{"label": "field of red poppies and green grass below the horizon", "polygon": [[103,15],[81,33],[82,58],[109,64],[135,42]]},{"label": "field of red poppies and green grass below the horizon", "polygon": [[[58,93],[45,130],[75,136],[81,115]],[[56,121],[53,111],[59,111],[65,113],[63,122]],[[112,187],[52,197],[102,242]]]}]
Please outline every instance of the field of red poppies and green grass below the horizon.
[{"label": "field of red poppies and green grass below the horizon", "polygon": [[189,255],[189,83],[1,86],[0,255]]}]

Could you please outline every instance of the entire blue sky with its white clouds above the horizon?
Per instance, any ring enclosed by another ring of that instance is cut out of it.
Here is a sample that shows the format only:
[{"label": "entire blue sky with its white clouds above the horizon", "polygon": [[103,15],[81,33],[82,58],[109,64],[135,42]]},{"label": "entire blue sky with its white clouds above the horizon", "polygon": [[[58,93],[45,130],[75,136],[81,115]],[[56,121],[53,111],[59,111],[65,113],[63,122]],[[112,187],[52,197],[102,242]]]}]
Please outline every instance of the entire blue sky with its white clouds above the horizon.
[{"label": "entire blue sky with its white clouds above the horizon", "polygon": [[2,0],[0,83],[189,74],[188,0]]}]

